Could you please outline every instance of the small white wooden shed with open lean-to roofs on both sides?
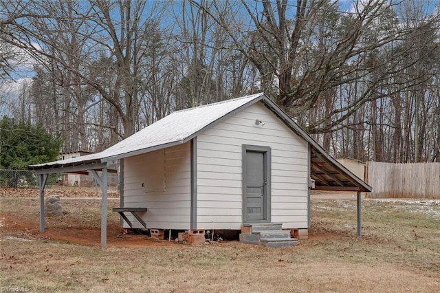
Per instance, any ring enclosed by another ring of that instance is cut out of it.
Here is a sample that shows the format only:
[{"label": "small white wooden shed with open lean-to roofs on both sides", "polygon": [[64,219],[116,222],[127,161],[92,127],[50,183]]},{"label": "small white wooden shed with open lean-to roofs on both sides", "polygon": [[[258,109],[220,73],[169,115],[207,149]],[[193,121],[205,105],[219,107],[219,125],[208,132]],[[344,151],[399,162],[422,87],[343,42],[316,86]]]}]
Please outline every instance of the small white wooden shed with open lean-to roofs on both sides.
[{"label": "small white wooden shed with open lean-to roofs on both sides", "polygon": [[358,191],[360,235],[360,192],[371,191],[265,94],[175,111],[100,153],[30,169],[41,177],[41,202],[47,174],[94,173],[105,246],[107,169],[118,161],[124,228],[307,229],[314,188]]}]

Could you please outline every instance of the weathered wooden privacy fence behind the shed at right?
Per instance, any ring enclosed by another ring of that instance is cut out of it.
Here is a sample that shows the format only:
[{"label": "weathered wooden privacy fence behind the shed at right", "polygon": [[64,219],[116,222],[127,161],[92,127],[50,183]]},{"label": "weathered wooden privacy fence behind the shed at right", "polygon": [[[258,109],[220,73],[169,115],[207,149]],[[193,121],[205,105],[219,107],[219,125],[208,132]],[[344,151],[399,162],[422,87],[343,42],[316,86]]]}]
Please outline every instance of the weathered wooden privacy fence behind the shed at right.
[{"label": "weathered wooden privacy fence behind the shed at right", "polygon": [[368,162],[371,198],[440,199],[440,162],[391,164]]}]

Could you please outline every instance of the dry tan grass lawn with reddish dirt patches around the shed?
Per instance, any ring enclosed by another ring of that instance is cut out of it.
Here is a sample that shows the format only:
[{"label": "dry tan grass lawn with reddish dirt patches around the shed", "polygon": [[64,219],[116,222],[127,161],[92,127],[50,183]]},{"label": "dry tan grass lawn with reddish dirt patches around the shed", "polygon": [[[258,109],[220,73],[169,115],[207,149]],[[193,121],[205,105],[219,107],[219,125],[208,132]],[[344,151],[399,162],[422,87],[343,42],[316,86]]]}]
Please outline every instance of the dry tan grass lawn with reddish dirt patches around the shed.
[{"label": "dry tan grass lawn with reddish dirt patches around the shed", "polygon": [[440,292],[440,201],[314,199],[310,239],[292,248],[203,247],[122,235],[100,201],[62,198],[39,231],[35,197],[0,198],[0,292]]}]

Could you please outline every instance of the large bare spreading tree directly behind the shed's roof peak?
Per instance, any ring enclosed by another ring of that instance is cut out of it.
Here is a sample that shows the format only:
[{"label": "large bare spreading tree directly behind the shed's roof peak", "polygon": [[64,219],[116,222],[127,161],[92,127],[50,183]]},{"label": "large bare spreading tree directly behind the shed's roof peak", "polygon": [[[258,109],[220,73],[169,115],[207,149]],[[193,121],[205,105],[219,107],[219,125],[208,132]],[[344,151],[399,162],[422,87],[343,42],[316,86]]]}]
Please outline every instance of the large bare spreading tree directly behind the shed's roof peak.
[{"label": "large bare spreading tree directly behind the shed's roof peak", "polygon": [[[391,9],[386,0],[356,2],[351,14],[340,13],[338,4],[329,0],[298,0],[296,4],[262,0],[254,6],[242,1],[239,9],[248,12],[252,20],[247,30],[235,20],[221,17],[215,4],[191,3],[230,34],[234,49],[259,70],[261,89],[292,116],[314,107],[329,89],[376,70],[380,63],[362,65],[364,58],[360,57],[408,33],[377,28]],[[365,42],[372,31],[377,32],[375,41]],[[312,133],[334,130],[365,102],[379,98],[371,94],[379,84],[378,80],[371,83],[364,96],[352,104],[304,126]]]}]

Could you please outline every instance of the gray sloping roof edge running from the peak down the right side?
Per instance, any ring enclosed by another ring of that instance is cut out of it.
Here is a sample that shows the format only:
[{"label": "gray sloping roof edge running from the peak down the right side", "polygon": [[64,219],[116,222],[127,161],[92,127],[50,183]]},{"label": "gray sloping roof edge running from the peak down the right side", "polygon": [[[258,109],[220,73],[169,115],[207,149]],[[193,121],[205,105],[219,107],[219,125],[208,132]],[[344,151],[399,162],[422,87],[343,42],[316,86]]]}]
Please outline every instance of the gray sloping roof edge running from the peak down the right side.
[{"label": "gray sloping roof edge running from the peak down the right side", "polygon": [[351,173],[351,171],[349,171],[349,169],[344,167],[342,164],[340,164],[340,162],[338,162],[329,153],[327,153],[327,151],[325,151],[325,149],[323,149],[322,146],[320,146],[320,144],[318,144],[318,142],[316,142],[316,140],[314,140],[314,138],[312,138],[309,135],[309,133],[307,133],[307,131],[305,131],[294,120],[292,120],[292,118],[290,118],[287,115],[287,113],[285,113],[285,111],[283,111],[283,109],[278,107],[278,105],[276,105],[275,102],[270,100],[270,98],[267,97],[265,94],[264,94],[264,96],[265,96],[265,98],[261,98],[261,101],[263,101],[265,103],[265,105],[267,105],[267,107],[269,107],[272,111],[274,111],[274,113],[276,113],[278,115],[278,117],[280,117],[292,130],[294,130],[298,135],[300,135],[307,142],[309,142],[309,144],[311,144],[311,146],[313,146],[314,149],[316,149],[316,151],[318,151],[318,153],[320,153],[327,160],[329,160],[329,162],[333,165],[333,167],[336,167],[336,169],[339,169],[340,171],[349,175],[351,180],[354,180],[355,182],[357,182],[360,186],[362,186],[365,189],[364,191],[371,192],[373,190],[373,188],[371,186],[369,186],[369,184],[366,184],[366,182],[364,182],[364,180],[361,180],[358,176]]}]

